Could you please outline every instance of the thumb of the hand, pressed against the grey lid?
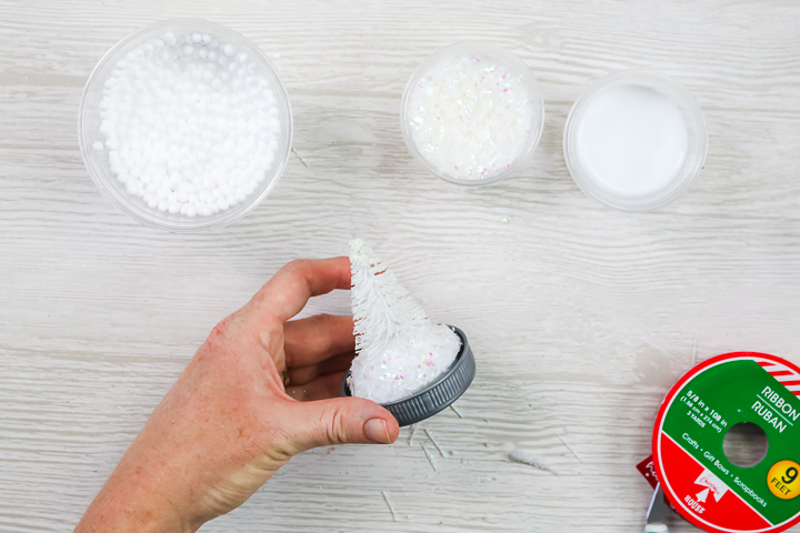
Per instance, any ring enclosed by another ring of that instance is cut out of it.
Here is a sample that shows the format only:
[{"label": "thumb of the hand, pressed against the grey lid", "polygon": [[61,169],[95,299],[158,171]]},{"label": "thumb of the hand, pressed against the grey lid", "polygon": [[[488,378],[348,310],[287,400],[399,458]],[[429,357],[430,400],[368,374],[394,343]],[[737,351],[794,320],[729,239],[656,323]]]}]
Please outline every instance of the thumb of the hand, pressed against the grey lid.
[{"label": "thumb of the hand, pressed against the grey lid", "polygon": [[294,445],[300,451],[334,444],[391,444],[400,426],[389,411],[361,398],[334,398],[292,405]]}]

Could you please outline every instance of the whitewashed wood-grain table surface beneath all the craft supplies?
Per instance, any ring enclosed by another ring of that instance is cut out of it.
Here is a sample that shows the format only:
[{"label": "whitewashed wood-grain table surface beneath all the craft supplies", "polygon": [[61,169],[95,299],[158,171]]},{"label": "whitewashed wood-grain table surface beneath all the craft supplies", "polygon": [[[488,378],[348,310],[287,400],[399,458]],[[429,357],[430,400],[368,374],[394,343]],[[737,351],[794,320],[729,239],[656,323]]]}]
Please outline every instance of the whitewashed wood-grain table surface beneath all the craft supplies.
[{"label": "whitewashed wood-grain table surface beneath all the craft supplies", "polygon": [[[292,155],[252,213],[192,237],[109,204],[76,133],[106,50],[188,16],[274,58],[309,165]],[[411,72],[468,39],[517,53],[546,99],[533,157],[491,188],[428,175],[400,134]],[[793,0],[0,0],[0,51],[2,532],[71,530],[212,325],[287,261],[342,254],[353,237],[470,338],[463,419],[422,424],[451,456],[434,472],[424,434],[409,446],[406,430],[391,447],[316,450],[204,531],[639,532],[649,490],[634,465],[694,335],[698,361],[758,350],[800,362]],[[587,198],[561,152],[574,99],[633,67],[684,83],[710,140],[689,192],[643,214]],[[341,292],[308,312],[348,305]],[[559,475],[509,462],[514,447]]]}]

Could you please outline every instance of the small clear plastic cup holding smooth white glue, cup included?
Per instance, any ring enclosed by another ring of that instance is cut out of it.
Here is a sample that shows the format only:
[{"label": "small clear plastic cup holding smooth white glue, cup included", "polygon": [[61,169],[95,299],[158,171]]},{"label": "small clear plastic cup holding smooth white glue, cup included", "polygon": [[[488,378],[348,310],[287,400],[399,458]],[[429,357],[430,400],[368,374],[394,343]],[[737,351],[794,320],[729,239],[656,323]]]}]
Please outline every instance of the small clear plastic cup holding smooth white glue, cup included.
[{"label": "small clear plastic cup holding smooth white glue, cup included", "polygon": [[706,160],[702,110],[671,78],[627,70],[593,83],[564,127],[567,168],[588,195],[623,211],[680,197]]}]

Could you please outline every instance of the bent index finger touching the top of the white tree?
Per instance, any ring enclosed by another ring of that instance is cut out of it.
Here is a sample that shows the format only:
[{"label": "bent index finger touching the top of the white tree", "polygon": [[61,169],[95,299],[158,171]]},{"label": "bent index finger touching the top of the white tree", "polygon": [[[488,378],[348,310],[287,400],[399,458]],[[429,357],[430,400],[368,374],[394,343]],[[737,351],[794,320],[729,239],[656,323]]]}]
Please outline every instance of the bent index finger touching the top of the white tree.
[{"label": "bent index finger touching the top of the white tree", "polygon": [[350,289],[348,258],[299,259],[280,269],[248,308],[258,316],[286,322],[302,311],[310,298],[333,289]]}]

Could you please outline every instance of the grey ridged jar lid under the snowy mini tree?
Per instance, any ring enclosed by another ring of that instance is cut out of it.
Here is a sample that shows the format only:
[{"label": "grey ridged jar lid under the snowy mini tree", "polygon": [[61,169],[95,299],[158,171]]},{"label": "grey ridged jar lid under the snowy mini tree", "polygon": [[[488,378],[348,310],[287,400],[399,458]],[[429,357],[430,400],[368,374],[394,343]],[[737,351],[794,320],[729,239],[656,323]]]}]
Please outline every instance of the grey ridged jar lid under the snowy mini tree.
[{"label": "grey ridged jar lid under the snowy mini tree", "polygon": [[[456,361],[433,383],[407,398],[401,398],[389,403],[381,403],[387,411],[392,413],[400,428],[416,424],[434,414],[446,410],[449,405],[461,398],[472,384],[476,375],[474,355],[467,341],[464,332],[456,326],[449,326],[461,340],[461,350],[456,355]],[[344,373],[341,381],[342,396],[351,396],[347,379],[350,372]]]}]

